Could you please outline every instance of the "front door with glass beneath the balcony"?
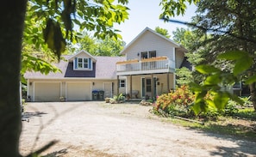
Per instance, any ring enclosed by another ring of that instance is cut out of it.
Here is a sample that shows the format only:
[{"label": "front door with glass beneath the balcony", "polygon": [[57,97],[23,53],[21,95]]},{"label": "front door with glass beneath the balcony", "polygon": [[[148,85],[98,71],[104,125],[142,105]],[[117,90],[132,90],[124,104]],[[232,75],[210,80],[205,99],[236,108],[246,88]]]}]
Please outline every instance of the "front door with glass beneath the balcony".
[{"label": "front door with glass beneath the balcony", "polygon": [[[142,91],[142,97],[149,99],[152,97],[156,97],[156,78],[146,77],[141,79],[141,91]],[[153,91],[152,91],[153,90]],[[152,96],[153,93],[153,96]]]}]

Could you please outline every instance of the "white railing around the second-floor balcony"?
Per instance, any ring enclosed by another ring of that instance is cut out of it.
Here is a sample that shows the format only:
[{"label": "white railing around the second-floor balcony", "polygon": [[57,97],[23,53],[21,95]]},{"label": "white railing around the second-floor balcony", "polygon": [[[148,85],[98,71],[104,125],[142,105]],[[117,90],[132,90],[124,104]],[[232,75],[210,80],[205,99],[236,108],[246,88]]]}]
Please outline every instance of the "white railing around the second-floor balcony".
[{"label": "white railing around the second-floor balcony", "polygon": [[175,62],[173,60],[165,59],[165,60],[153,60],[150,62],[138,61],[133,63],[117,63],[116,64],[116,72],[133,72],[138,73],[138,71],[153,71],[156,73],[159,69],[165,69],[166,72],[175,69]]}]

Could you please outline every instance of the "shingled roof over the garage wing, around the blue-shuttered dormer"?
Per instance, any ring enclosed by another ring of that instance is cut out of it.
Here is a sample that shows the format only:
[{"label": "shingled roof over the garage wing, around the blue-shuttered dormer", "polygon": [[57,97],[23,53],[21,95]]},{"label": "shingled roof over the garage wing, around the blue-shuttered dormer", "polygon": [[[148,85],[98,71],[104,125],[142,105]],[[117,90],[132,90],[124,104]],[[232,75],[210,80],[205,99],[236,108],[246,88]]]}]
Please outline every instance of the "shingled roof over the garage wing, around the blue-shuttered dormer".
[{"label": "shingled roof over the garage wing, around the blue-shuttered dormer", "polygon": [[[93,63],[92,71],[72,70],[72,56],[63,56],[66,60],[53,63],[62,72],[43,75],[40,72],[26,72],[26,79],[66,79],[66,78],[93,78],[93,79],[116,79],[116,62],[124,61],[125,57],[93,57],[97,62]],[[70,61],[68,61],[69,59]]]}]

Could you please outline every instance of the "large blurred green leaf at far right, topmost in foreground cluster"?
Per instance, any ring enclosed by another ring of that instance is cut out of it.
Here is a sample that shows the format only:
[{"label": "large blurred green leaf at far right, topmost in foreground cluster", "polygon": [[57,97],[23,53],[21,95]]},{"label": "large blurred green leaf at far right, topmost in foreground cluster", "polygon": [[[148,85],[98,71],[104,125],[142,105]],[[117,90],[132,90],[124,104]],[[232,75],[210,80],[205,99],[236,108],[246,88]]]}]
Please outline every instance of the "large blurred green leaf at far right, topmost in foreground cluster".
[{"label": "large blurred green leaf at far right, topmost in foreground cluster", "polygon": [[234,75],[239,75],[240,73],[249,69],[253,64],[253,58],[249,56],[241,57],[234,64]]}]

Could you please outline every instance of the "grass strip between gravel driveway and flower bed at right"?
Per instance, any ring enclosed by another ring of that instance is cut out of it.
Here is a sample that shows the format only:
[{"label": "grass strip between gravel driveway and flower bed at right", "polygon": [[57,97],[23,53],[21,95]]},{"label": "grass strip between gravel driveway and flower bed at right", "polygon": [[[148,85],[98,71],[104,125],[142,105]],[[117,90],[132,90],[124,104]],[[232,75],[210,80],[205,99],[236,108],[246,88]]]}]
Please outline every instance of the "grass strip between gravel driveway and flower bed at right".
[{"label": "grass strip between gravel driveway and flower bed at right", "polygon": [[250,141],[256,141],[256,112],[253,108],[239,109],[232,116],[216,118],[215,121],[205,121],[204,124],[184,121],[178,118],[167,118],[164,121],[178,124],[191,129],[204,130],[221,135],[235,136]]}]

